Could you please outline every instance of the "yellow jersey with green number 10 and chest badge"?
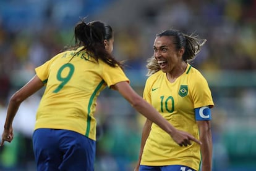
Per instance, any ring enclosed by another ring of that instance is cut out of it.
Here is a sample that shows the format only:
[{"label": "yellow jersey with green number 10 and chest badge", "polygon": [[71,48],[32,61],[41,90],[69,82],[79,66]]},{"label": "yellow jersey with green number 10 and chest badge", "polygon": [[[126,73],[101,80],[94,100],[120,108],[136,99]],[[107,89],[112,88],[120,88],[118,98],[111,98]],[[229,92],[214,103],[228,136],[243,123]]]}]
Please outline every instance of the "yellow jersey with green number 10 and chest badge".
[{"label": "yellow jersey with green number 10 and chest badge", "polygon": [[[208,83],[198,70],[188,65],[175,82],[166,73],[158,71],[147,79],[143,98],[147,100],[176,129],[184,130],[199,138],[194,108],[212,107],[213,99]],[[142,165],[186,165],[198,170],[200,145],[179,146],[158,125],[152,124],[143,149]]]}]

